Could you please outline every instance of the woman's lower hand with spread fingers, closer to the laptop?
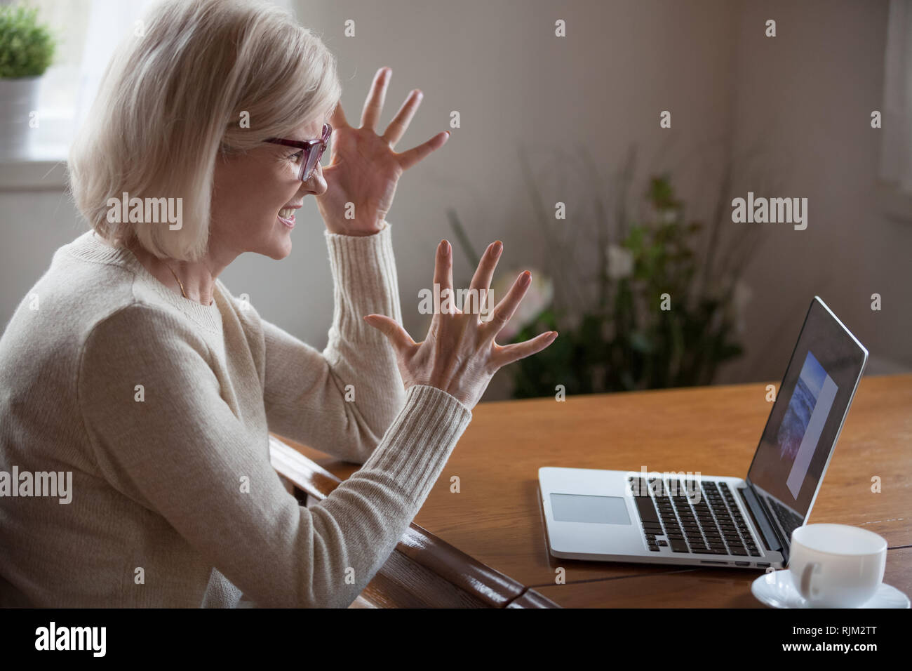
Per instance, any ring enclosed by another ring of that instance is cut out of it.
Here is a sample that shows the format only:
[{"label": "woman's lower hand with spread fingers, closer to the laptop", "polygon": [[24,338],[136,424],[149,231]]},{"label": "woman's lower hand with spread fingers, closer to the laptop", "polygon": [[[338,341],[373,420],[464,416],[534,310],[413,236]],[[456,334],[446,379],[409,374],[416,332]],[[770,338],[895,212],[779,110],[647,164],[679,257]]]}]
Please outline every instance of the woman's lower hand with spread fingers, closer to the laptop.
[{"label": "woman's lower hand with spread fingers, closer to the laptop", "polygon": [[[508,363],[524,359],[535,352],[544,350],[554,342],[556,331],[546,331],[533,339],[511,345],[498,345],[494,338],[513,317],[531,282],[531,274],[520,274],[507,295],[497,303],[492,314],[481,319],[480,307],[472,296],[478,296],[483,303],[491,289],[491,278],[503,245],[494,242],[485,250],[482,260],[472,277],[470,293],[462,306],[456,309],[453,292],[452,247],[441,240],[437,247],[434,263],[434,283],[440,285],[440,303],[447,307],[442,311],[434,306],[427,337],[420,342],[412,340],[399,323],[385,315],[369,314],[364,317],[375,329],[386,335],[397,353],[399,373],[408,390],[414,384],[427,384],[442,389],[456,397],[472,410],[482,398],[494,373]],[[445,301],[445,289],[450,289],[450,301]],[[436,292],[435,292],[436,294]],[[496,297],[492,297],[496,298]],[[447,305],[449,303],[449,305]],[[490,319],[488,319],[490,317]]]}]

